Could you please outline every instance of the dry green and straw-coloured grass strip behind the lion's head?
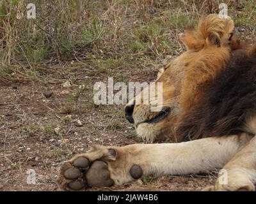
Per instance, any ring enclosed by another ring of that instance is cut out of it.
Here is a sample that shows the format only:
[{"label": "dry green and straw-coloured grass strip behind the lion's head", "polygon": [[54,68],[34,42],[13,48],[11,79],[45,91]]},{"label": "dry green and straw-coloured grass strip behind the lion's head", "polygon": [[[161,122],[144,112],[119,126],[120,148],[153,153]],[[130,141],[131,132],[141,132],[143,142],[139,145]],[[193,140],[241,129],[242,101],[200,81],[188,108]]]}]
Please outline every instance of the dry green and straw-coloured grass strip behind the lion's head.
[{"label": "dry green and straw-coloured grass strip behind the lion's head", "polygon": [[[195,26],[201,14],[218,13],[218,4],[214,7],[202,0],[145,1],[139,8],[138,0],[85,0],[80,4],[35,0],[36,20],[24,17],[18,21],[17,2],[0,1],[0,75],[11,78],[19,71],[19,75],[41,82],[49,79],[40,68],[71,61],[78,70],[86,68],[88,77],[107,74],[124,82],[126,70],[141,73],[141,68],[156,67],[167,55],[175,54],[180,49],[177,34]],[[236,25],[255,29],[253,1],[224,2]],[[21,69],[13,70],[15,66]],[[72,75],[75,70],[62,71]],[[68,104],[65,112],[72,108]]]}]

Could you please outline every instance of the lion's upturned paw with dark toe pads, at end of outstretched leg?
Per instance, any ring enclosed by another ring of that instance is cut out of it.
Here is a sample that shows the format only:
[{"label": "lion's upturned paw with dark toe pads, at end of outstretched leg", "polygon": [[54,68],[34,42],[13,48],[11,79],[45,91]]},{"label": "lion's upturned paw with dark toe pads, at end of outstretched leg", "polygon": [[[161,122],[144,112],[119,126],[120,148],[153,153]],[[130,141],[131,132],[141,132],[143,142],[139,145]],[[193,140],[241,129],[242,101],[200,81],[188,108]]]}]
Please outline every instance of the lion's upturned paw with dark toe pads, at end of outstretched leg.
[{"label": "lion's upturned paw with dark toe pads, at end of outstretched leg", "polygon": [[57,180],[61,189],[78,191],[88,186],[113,186],[106,159],[114,159],[115,150],[93,148],[92,152],[73,157],[61,165]]}]

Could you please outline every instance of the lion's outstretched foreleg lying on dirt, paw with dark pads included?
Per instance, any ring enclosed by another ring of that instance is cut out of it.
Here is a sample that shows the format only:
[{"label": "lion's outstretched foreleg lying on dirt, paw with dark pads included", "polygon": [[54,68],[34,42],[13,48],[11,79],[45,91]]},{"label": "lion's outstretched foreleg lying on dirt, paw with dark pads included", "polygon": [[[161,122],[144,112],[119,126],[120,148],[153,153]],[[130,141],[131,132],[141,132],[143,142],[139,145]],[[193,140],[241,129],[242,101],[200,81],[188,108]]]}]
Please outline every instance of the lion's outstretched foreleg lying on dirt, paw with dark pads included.
[{"label": "lion's outstretched foreleg lying on dirt, paw with dark pads included", "polygon": [[184,175],[221,168],[250,138],[224,136],[182,143],[93,147],[62,164],[61,189],[113,186],[148,175]]}]

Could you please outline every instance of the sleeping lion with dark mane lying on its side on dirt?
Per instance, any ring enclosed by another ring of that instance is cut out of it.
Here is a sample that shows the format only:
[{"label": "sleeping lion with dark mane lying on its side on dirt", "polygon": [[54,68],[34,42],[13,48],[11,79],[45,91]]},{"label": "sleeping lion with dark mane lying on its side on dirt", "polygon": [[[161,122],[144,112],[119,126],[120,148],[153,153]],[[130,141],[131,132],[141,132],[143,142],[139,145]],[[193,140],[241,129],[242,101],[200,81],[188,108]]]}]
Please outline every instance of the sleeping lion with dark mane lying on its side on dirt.
[{"label": "sleeping lion with dark mane lying on its side on dirt", "polygon": [[[125,106],[141,138],[179,143],[97,146],[61,164],[63,190],[122,185],[148,175],[185,175],[223,168],[228,182],[206,191],[255,191],[256,46],[233,38],[234,22],[205,17],[180,34],[187,50],[159,71],[163,108]],[[143,96],[143,92],[136,97]]]}]

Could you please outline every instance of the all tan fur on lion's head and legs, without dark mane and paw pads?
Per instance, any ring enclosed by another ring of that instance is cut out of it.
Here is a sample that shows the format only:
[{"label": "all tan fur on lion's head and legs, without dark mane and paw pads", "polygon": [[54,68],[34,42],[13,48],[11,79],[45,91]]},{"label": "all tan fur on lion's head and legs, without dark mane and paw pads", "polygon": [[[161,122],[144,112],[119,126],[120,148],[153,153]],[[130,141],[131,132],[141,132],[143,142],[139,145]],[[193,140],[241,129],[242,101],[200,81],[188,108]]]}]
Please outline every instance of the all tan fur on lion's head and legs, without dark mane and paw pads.
[{"label": "all tan fur on lion's head and legs, without dark mane and paw pads", "polygon": [[[170,114],[156,124],[148,124],[143,121],[154,119],[157,113],[150,111],[150,105],[135,105],[132,116],[141,138],[153,141],[160,135],[175,135],[173,124],[182,113],[189,111],[198,102],[207,91],[207,83],[216,77],[218,71],[225,68],[230,50],[241,48],[239,40],[228,40],[233,29],[232,20],[221,20],[216,15],[210,15],[200,22],[197,30],[180,36],[188,50],[162,69],[156,81],[163,82],[163,106],[170,106]],[[141,96],[143,92],[136,97]],[[129,105],[132,103],[130,101]],[[255,129],[255,121],[255,118],[248,121],[248,129]],[[172,139],[175,141],[175,138]],[[68,190],[68,184],[74,180],[65,179],[65,171],[74,168],[72,165],[75,159],[86,157],[91,164],[93,161],[105,161],[108,164],[109,177],[115,185],[132,182],[134,179],[130,170],[136,164],[140,166],[143,176],[184,175],[223,168],[228,172],[228,183],[223,185],[217,180],[215,186],[205,190],[254,191],[256,138],[251,139],[252,136],[244,133],[182,143],[95,146],[89,152],[79,154],[62,164],[58,184],[61,189]],[[110,155],[110,149],[115,150],[116,154]]]}]

